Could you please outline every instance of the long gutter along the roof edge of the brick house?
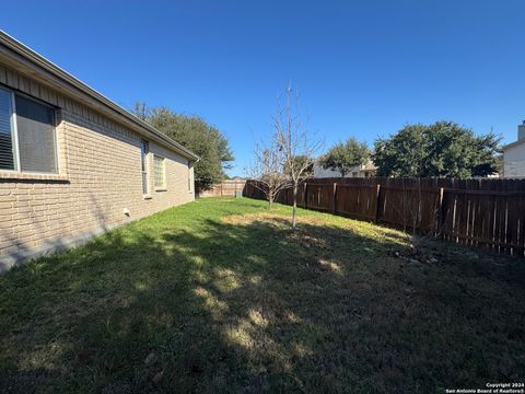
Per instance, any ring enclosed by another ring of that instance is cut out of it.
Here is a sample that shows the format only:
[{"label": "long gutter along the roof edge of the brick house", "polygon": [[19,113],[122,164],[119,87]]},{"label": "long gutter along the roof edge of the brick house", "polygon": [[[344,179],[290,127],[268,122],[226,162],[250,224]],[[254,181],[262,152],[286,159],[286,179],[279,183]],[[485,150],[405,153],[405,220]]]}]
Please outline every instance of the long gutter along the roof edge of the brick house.
[{"label": "long gutter along the roof edge of the brick house", "polygon": [[[47,71],[52,77],[57,78],[61,82],[66,82],[69,88],[74,88],[77,91],[88,95],[90,99],[94,100],[95,102],[102,104],[104,107],[109,109],[113,113],[116,113],[119,117],[126,119],[128,123],[137,126],[141,130],[145,130],[150,136],[153,136],[158,141],[164,142],[164,144],[173,148],[175,151],[180,153],[187,159],[191,159],[194,162],[198,162],[200,158],[191,152],[189,149],[184,147],[183,144],[178,143],[174,139],[167,137],[163,132],[155,129],[153,126],[149,125],[144,120],[139,119],[128,111],[124,109],[118,104],[114,103],[102,93],[98,93],[93,88],[89,86],[84,82],[80,81],[78,78],[73,77],[69,72],[65,71],[57,65],[52,63],[51,61],[47,60],[44,56],[37,54],[33,49],[28,48],[27,46],[23,45],[15,38],[11,37],[9,34],[0,30],[0,44],[5,46],[11,51],[15,53],[18,56],[22,57],[24,60],[30,62],[33,66],[37,66],[38,68]],[[0,47],[0,49],[2,49]]]}]

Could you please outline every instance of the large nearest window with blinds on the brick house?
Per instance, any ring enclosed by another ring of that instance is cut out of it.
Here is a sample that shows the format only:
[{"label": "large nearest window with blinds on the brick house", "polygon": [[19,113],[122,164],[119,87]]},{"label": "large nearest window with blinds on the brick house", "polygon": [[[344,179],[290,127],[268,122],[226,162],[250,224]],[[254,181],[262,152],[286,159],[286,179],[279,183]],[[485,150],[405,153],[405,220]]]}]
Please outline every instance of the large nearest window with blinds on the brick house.
[{"label": "large nearest window with blinds on the brick house", "polygon": [[0,89],[0,170],[57,173],[55,109]]}]

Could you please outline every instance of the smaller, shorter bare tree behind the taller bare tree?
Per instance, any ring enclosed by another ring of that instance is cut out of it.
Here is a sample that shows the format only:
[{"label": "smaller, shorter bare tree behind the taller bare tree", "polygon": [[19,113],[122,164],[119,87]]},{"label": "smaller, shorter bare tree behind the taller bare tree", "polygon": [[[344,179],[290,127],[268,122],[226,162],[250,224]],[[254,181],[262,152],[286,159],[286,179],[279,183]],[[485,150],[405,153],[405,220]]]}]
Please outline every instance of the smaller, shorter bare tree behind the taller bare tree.
[{"label": "smaller, shorter bare tree behind the taller bare tree", "polygon": [[245,169],[246,175],[257,181],[252,183],[262,192],[271,209],[283,189],[290,187],[290,177],[284,173],[284,152],[280,149],[277,134],[267,143],[258,142],[254,149],[254,162]]}]

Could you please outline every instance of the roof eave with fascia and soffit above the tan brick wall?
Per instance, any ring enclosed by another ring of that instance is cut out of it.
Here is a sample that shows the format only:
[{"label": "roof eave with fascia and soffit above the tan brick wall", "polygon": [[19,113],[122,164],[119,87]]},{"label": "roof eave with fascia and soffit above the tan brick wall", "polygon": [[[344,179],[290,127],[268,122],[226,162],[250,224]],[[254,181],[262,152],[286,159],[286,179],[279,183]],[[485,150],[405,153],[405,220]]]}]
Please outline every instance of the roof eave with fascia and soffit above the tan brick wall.
[{"label": "roof eave with fascia and soffit above the tan brick wall", "polygon": [[33,78],[38,77],[52,89],[79,100],[89,107],[102,112],[113,119],[132,128],[138,134],[171,148],[180,155],[194,161],[199,160],[199,157],[189,149],[159,131],[148,123],[139,119],[121,106],[115,104],[113,101],[95,91],[93,88],[90,88],[84,82],[62,70],[60,67],[47,60],[42,55],[38,55],[36,51],[26,47],[1,30],[0,58],[4,60],[8,66],[15,67],[18,71],[24,71]]}]

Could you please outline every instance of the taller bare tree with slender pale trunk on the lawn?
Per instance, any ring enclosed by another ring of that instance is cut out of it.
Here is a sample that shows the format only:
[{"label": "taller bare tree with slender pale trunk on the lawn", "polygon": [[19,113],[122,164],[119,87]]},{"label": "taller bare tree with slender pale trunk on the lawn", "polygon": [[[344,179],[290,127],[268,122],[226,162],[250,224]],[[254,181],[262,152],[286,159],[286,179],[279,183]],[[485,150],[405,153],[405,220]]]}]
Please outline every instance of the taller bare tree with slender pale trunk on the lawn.
[{"label": "taller bare tree with slender pale trunk on the lawn", "polygon": [[287,175],[293,189],[292,229],[296,224],[298,189],[305,178],[312,176],[315,155],[323,147],[307,125],[303,125],[299,114],[299,94],[289,84],[285,92],[284,106],[279,105],[273,119],[279,151],[284,157]]}]

